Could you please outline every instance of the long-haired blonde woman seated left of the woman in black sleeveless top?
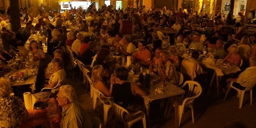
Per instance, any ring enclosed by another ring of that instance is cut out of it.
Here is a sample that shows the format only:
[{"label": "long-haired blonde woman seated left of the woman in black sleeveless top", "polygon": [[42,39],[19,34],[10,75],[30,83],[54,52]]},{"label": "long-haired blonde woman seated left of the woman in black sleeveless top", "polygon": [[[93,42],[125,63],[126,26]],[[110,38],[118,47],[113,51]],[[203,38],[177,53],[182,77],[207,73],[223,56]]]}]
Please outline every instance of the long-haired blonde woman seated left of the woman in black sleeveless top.
[{"label": "long-haired blonde woman seated left of the woman in black sleeveless top", "polygon": [[93,87],[102,92],[105,96],[111,97],[111,93],[103,81],[104,76],[105,72],[102,65],[96,65],[93,67],[91,77],[91,80],[93,81]]}]

